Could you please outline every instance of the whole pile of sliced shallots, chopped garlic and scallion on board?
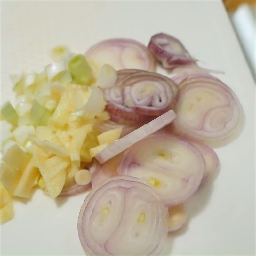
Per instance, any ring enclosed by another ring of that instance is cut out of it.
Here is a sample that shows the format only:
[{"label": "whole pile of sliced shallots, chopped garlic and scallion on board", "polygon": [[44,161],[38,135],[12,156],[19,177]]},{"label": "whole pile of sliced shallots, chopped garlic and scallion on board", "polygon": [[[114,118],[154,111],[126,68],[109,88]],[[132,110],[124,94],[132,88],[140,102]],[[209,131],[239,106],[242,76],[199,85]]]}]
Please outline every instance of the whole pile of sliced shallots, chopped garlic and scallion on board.
[{"label": "whole pile of sliced shallots, chopped garlic and scallion on board", "polygon": [[[181,42],[110,39],[75,55],[52,50],[1,108],[1,222],[13,197],[92,191],[78,217],[88,255],[160,255],[186,222],[183,203],[218,167],[210,146],[241,131],[234,92]],[[169,77],[156,73],[161,64]]]}]

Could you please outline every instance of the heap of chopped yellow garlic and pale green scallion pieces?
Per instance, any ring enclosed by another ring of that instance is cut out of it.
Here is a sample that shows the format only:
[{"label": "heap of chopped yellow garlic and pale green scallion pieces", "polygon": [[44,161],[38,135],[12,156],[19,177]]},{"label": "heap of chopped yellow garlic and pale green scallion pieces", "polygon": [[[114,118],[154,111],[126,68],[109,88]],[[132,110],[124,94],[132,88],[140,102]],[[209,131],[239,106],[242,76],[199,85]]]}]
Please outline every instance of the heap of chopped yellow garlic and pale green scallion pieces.
[{"label": "heap of chopped yellow garlic and pale green scallion pieces", "polygon": [[9,102],[1,108],[1,183],[12,196],[30,197],[34,186],[52,198],[88,190],[91,178],[83,180],[78,171],[103,141],[107,147],[120,136],[118,128],[97,140],[94,123],[110,116],[85,57],[61,46],[52,58],[43,73],[15,81],[16,109]]}]

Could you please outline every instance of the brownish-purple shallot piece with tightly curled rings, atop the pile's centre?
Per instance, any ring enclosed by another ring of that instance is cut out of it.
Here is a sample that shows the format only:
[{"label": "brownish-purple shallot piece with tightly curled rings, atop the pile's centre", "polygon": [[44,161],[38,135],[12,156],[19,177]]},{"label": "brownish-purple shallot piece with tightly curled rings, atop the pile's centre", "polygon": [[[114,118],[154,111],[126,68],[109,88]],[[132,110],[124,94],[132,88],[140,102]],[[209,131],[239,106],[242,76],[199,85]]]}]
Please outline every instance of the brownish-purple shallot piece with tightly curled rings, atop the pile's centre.
[{"label": "brownish-purple shallot piece with tightly curled rings, atop the pile's centre", "polygon": [[111,116],[141,121],[172,109],[177,87],[168,77],[142,70],[120,70],[117,81],[104,90],[106,109]]}]

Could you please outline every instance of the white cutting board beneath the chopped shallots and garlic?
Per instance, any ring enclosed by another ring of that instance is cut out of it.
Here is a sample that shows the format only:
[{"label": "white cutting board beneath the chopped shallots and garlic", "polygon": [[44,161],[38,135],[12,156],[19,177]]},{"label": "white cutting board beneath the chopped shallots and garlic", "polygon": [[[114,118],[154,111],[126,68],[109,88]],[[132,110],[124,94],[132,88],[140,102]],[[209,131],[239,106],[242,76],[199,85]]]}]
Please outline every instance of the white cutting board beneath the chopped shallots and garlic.
[{"label": "white cutting board beneath the chopped shallots and garlic", "polygon": [[[83,53],[102,39],[148,44],[165,32],[203,67],[224,71],[218,77],[241,101],[245,127],[237,140],[216,150],[220,172],[186,204],[189,222],[170,237],[170,254],[255,255],[255,84],[221,1],[0,3],[1,105],[11,97],[9,75],[42,70],[57,44]],[[29,201],[15,201],[15,218],[0,227],[0,254],[83,255],[76,225],[84,197],[53,201],[37,191]]]}]

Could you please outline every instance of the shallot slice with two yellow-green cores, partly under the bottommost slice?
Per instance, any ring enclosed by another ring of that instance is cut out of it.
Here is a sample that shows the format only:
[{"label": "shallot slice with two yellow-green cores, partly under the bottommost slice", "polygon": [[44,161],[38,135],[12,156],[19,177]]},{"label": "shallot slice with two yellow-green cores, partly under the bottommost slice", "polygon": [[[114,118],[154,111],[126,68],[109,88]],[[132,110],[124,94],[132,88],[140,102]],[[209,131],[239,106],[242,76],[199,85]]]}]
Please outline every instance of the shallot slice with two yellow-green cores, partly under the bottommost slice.
[{"label": "shallot slice with two yellow-green cores, partly under the bottommost slice", "polygon": [[117,173],[139,178],[164,204],[184,202],[199,187],[205,161],[199,150],[169,133],[155,133],[125,151]]}]

